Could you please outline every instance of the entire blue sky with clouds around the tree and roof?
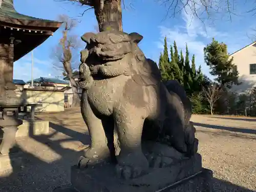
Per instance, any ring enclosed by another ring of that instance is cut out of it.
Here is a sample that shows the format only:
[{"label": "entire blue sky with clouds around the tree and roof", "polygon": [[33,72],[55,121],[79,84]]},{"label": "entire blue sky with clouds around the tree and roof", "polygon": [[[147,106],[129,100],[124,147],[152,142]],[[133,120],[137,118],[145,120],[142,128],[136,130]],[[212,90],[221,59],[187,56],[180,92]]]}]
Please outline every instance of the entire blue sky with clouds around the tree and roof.
[{"label": "entire blue sky with clouds around the tree and roof", "polygon": [[[132,3],[132,6],[130,6]],[[209,69],[203,60],[203,48],[209,44],[212,37],[228,45],[230,53],[250,44],[254,39],[254,20],[256,16],[243,14],[232,15],[232,20],[226,14],[211,15],[215,18],[206,20],[204,24],[200,19],[193,17],[189,10],[181,11],[175,17],[167,17],[165,5],[157,0],[126,0],[123,10],[123,30],[131,33],[137,32],[144,36],[140,48],[146,55],[158,62],[163,49],[163,38],[166,36],[168,47],[176,40],[178,48],[184,50],[187,43],[190,56],[196,55],[196,65],[202,66],[203,72],[208,75]],[[81,36],[85,32],[95,32],[96,18],[93,10],[79,17],[84,8],[70,3],[54,2],[53,0],[14,0],[15,9],[23,14],[38,18],[56,20],[59,14],[67,14],[81,20],[73,33]],[[250,9],[251,5],[242,3],[238,5],[240,14]],[[200,7],[198,7],[200,10]],[[256,31],[255,31],[256,35]],[[61,71],[53,67],[52,51],[61,38],[58,30],[42,45],[34,50],[33,77],[56,77]],[[82,46],[83,45],[83,42]],[[31,79],[31,53],[14,63],[14,79]]]}]

